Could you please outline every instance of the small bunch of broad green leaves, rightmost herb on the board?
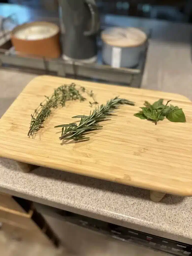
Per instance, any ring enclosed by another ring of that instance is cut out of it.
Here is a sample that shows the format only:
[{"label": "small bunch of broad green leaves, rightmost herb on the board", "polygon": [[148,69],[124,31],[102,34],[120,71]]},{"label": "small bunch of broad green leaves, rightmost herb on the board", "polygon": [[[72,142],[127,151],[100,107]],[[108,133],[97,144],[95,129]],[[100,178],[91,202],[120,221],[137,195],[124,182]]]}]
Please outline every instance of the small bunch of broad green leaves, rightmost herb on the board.
[{"label": "small bunch of broad green leaves, rightmost herb on the board", "polygon": [[185,114],[183,113],[182,109],[179,109],[178,106],[167,106],[163,104],[163,99],[159,99],[155,101],[153,104],[150,104],[148,101],[144,102],[145,107],[141,107],[142,111],[134,114],[134,116],[140,119],[147,119],[149,121],[154,122],[157,124],[158,121],[164,120],[166,117],[171,122],[186,122]]}]

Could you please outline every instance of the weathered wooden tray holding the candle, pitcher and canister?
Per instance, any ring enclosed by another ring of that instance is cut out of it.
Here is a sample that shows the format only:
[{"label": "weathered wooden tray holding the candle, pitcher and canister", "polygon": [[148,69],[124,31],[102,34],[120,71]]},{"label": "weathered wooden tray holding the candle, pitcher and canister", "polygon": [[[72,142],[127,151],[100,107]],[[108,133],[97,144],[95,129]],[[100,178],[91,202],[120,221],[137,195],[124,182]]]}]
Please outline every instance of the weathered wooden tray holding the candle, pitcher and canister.
[{"label": "weathered wooden tray holding the candle, pitcher and canister", "polygon": [[[68,63],[62,58],[47,59],[36,56],[23,56],[15,52],[10,40],[10,30],[5,29],[5,23],[11,20],[13,26],[18,24],[15,15],[7,17],[3,20],[2,35],[0,36],[0,66],[10,68],[19,68],[23,70],[30,70],[30,72],[46,74],[55,74],[61,77],[73,77],[82,80],[94,80],[98,82],[108,82],[114,84],[122,84],[132,87],[140,87],[143,70],[145,66],[145,59],[147,54],[146,44],[145,50],[141,53],[139,64],[136,68],[112,68],[104,65],[101,54],[101,39],[98,38],[98,62],[94,64],[84,64],[80,62]],[[59,18],[55,20],[59,24]],[[107,28],[108,24],[102,24],[101,30]],[[1,43],[2,39],[4,40]]]}]

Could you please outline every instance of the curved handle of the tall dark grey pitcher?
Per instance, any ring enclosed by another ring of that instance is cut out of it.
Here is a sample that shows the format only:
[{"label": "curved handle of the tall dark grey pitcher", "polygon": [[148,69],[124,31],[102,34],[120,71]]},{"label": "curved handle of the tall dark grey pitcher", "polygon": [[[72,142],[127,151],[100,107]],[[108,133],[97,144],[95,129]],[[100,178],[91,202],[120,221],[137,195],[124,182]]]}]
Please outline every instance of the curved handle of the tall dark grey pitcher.
[{"label": "curved handle of the tall dark grey pitcher", "polygon": [[99,13],[98,8],[94,0],[85,0],[89,10],[91,12],[91,29],[89,31],[84,31],[85,36],[90,36],[96,34],[99,30]]}]

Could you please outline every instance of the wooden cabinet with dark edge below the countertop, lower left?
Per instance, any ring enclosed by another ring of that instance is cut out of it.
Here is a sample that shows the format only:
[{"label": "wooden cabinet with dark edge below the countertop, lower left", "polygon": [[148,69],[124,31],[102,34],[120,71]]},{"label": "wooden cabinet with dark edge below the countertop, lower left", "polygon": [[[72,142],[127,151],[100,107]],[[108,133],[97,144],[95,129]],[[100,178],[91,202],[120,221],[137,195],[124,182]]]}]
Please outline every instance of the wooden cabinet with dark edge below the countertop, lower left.
[{"label": "wooden cabinet with dark edge below the countertop, lower left", "polygon": [[59,246],[59,239],[31,201],[0,192],[0,222],[10,238]]}]

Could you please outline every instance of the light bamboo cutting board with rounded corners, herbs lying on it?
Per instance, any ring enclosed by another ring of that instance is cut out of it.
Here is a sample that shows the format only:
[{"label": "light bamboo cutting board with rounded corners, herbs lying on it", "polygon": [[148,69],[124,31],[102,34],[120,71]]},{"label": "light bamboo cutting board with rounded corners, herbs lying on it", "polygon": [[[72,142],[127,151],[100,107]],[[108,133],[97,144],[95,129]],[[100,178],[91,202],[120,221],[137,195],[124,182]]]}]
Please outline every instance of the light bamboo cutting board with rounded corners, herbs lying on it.
[{"label": "light bamboo cutting board with rounded corners, herbs lying on it", "polygon": [[[44,95],[62,84],[76,83],[93,90],[99,104],[120,96],[135,102],[122,105],[117,115],[102,122],[103,129],[89,134],[86,142],[60,141],[58,124],[76,121],[74,115],[94,109],[87,101],[69,101],[54,110],[42,128],[28,137],[30,114]],[[141,120],[145,100],[172,100],[183,108],[186,123]],[[192,196],[192,103],[182,95],[101,83],[39,76],[32,80],[0,120],[0,156],[164,193]]]}]

